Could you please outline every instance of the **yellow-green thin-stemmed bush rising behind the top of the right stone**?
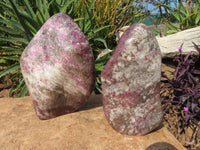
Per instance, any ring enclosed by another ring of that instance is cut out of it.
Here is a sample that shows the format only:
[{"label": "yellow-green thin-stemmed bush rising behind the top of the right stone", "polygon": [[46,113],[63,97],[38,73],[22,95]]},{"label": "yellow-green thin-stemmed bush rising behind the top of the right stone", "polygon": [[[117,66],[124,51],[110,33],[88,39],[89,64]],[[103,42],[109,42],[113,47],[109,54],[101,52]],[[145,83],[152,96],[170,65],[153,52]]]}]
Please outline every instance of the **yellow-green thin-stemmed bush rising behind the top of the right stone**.
[{"label": "yellow-green thin-stemmed bush rising behind the top of the right stone", "polygon": [[138,9],[135,0],[96,0],[94,3],[93,15],[96,15],[97,27],[110,25],[110,27],[98,33],[105,37],[110,49],[116,45],[114,33],[123,26],[130,25],[133,20],[142,20],[145,12]]}]

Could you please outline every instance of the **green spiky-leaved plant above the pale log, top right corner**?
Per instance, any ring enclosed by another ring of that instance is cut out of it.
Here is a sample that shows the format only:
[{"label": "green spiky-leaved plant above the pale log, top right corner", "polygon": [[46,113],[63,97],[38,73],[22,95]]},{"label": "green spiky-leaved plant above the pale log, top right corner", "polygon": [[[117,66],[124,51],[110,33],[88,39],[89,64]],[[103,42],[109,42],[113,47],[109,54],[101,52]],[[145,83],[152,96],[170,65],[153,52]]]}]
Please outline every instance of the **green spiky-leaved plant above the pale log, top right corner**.
[{"label": "green spiky-leaved plant above the pale log, top right corner", "polygon": [[174,23],[170,22],[170,20],[164,21],[171,29],[168,33],[175,33],[200,24],[200,0],[196,0],[195,4],[192,2],[183,4],[182,1],[179,1],[178,8],[169,5],[165,5],[165,8],[177,21]]}]

